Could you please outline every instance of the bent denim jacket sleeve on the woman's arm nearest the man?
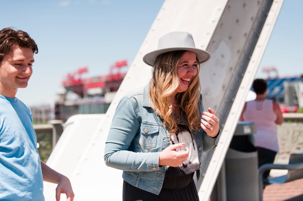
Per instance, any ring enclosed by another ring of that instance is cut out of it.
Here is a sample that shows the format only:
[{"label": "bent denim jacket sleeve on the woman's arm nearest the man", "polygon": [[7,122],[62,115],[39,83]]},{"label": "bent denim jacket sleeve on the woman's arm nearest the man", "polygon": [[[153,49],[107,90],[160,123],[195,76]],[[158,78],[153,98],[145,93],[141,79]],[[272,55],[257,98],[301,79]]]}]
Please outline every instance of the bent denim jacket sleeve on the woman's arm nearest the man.
[{"label": "bent denim jacket sleeve on the woman's arm nearest the man", "polygon": [[118,103],[105,143],[105,164],[125,171],[159,170],[160,152],[136,153],[132,149],[132,141],[140,132],[134,104],[128,97]]}]

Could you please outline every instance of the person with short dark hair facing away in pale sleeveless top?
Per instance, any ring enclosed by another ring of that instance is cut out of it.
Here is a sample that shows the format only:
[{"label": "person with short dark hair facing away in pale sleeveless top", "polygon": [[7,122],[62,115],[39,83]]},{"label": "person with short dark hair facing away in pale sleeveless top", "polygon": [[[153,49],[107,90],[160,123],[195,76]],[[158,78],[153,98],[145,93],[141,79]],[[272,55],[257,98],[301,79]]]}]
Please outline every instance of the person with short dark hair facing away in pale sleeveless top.
[{"label": "person with short dark hair facing away in pale sleeveless top", "polygon": [[[257,133],[254,135],[258,151],[258,166],[273,163],[279,151],[276,124],[282,124],[283,116],[279,105],[266,99],[267,83],[264,79],[255,79],[253,89],[256,99],[245,103],[240,121],[255,122]],[[263,178],[267,178],[266,171]]]}]

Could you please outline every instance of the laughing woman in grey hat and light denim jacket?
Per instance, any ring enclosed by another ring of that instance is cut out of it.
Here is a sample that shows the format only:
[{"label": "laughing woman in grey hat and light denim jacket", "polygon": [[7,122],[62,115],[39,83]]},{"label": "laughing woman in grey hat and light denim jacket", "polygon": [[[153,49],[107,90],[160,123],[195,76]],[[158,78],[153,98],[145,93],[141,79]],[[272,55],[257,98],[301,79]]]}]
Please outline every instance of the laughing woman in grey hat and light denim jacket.
[{"label": "laughing woman in grey hat and light denim jacket", "polygon": [[204,111],[200,92],[209,58],[181,31],[143,57],[152,78],[120,100],[105,143],[106,165],[124,170],[123,200],[199,200],[193,176],[219,139],[219,119]]}]

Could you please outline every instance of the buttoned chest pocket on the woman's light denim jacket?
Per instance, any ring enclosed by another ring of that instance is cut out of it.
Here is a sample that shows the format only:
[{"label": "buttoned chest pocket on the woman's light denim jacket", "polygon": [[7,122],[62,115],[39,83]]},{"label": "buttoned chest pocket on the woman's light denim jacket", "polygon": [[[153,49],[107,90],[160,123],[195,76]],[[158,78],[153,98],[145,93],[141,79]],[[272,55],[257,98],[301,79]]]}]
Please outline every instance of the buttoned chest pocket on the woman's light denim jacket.
[{"label": "buttoned chest pocket on the woman's light denim jacket", "polygon": [[149,122],[142,122],[140,126],[140,131],[140,145],[146,149],[155,148],[159,135],[159,125],[153,125]]}]

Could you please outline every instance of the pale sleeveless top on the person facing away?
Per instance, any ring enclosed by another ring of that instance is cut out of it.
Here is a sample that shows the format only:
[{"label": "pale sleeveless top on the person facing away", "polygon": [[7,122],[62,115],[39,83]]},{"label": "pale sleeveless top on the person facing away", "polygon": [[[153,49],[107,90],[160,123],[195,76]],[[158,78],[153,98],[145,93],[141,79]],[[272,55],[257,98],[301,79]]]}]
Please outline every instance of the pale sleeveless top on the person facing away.
[{"label": "pale sleeveless top on the person facing away", "polygon": [[272,100],[248,101],[243,112],[243,120],[255,122],[257,133],[255,134],[255,146],[279,152],[276,119]]}]

